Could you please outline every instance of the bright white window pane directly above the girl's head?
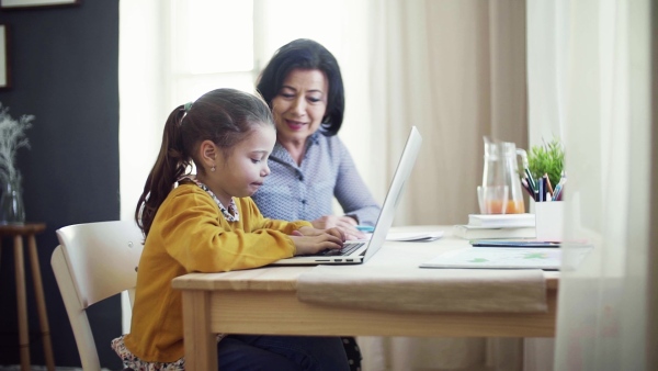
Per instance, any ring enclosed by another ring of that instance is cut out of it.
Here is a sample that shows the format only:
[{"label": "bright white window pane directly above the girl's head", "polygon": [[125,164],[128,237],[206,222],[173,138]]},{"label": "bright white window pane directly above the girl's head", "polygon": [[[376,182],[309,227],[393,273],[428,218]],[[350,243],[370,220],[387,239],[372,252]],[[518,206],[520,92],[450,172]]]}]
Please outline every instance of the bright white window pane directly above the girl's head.
[{"label": "bright white window pane directly above the girl's head", "polygon": [[217,88],[253,91],[253,1],[174,2],[171,61],[175,102]]}]

